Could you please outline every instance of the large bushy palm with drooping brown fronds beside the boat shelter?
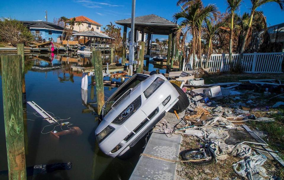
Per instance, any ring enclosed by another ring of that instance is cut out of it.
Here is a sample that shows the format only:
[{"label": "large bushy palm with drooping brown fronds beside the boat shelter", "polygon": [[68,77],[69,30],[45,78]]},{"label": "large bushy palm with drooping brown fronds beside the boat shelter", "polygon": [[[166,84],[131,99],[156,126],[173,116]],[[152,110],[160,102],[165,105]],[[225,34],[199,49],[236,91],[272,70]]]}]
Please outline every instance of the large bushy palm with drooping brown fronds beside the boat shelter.
[{"label": "large bushy palm with drooping brown fronds beside the boat shelter", "polygon": [[[198,50],[199,56],[201,57],[201,25],[202,22],[206,17],[210,17],[214,12],[216,12],[216,6],[209,4],[206,7],[203,7],[201,0],[195,0],[188,4],[186,9],[183,11],[177,12],[174,14],[175,22],[178,19],[183,19],[179,26],[176,29],[176,43],[177,46],[180,46],[184,52],[184,45],[186,37],[189,33],[192,34],[192,54],[193,54],[193,69],[195,69],[195,55],[196,50]],[[182,35],[184,33],[184,35]],[[183,36],[182,40],[180,41],[180,37]],[[197,49],[199,47],[199,49]],[[202,66],[202,59],[200,58],[200,67]]]}]

